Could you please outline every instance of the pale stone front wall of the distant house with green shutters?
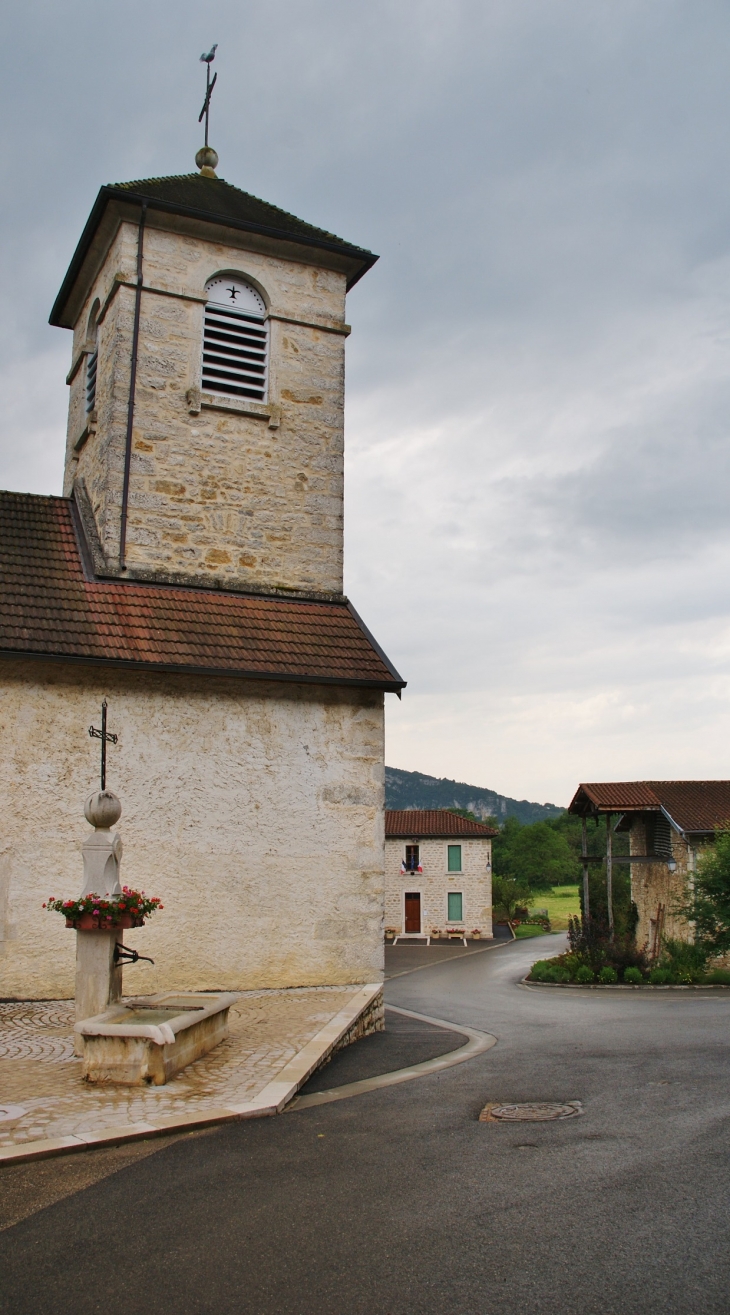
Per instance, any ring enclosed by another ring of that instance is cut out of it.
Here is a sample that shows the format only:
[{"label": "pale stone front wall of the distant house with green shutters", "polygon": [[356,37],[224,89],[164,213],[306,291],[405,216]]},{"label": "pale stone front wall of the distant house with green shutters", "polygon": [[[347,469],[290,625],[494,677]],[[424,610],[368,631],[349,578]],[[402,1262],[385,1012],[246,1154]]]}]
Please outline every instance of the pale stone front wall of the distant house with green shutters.
[{"label": "pale stone front wall of the distant house with green shutters", "polygon": [[[492,842],[451,836],[449,840],[420,840],[424,872],[401,874],[408,840],[385,840],[385,926],[404,931],[404,893],[421,892],[421,927],[430,932],[447,926],[447,894],[460,890],[463,896],[462,922],[471,932],[492,935]],[[460,873],[449,872],[447,849],[462,846]],[[489,867],[487,867],[489,864]]]}]

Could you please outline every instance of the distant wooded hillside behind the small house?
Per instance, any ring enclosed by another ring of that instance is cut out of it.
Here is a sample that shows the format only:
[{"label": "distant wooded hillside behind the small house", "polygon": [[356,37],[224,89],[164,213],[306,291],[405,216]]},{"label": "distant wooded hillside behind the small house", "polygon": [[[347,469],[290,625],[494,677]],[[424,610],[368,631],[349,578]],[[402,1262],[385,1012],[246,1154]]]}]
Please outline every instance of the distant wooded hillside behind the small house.
[{"label": "distant wooded hillside behind the small house", "polygon": [[513,817],[520,822],[545,822],[556,818],[563,809],[556,803],[530,803],[510,800],[506,794],[487,790],[481,785],[450,781],[447,777],[425,776],[422,772],[402,772],[400,767],[385,768],[387,809],[468,809],[477,818]]}]

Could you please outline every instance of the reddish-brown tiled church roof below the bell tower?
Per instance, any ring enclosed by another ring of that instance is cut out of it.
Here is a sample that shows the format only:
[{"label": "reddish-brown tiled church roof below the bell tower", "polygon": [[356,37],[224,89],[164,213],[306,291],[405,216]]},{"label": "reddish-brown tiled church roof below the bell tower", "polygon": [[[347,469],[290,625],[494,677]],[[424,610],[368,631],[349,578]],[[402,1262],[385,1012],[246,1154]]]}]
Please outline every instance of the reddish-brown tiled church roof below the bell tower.
[{"label": "reddish-brown tiled church roof below the bell tower", "polygon": [[399,690],[343,602],[89,580],[70,498],[0,493],[0,654]]}]

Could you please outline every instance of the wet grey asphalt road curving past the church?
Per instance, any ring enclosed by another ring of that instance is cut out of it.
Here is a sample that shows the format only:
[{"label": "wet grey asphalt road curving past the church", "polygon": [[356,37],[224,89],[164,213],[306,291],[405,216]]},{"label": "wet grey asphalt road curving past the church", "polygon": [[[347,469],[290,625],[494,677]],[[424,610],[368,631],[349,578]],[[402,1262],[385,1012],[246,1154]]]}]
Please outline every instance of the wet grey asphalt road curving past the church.
[{"label": "wet grey asphalt road curving past the church", "polygon": [[[392,977],[392,1003],[499,1038],[466,1064],[124,1164],[103,1152],[95,1182],[95,1153],[25,1166],[34,1212],[0,1232],[0,1310],[725,1315],[730,993],[520,986],[547,947]],[[402,1053],[431,1041],[406,1031]],[[535,1099],[585,1114],[477,1122]]]}]

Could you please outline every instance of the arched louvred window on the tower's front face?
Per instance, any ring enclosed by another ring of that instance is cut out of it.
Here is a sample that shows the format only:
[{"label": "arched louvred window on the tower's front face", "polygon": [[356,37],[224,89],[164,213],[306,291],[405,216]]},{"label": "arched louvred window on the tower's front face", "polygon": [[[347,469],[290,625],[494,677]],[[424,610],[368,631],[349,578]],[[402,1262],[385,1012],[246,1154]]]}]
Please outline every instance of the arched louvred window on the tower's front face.
[{"label": "arched louvred window on the tower's front face", "polygon": [[235,275],[216,275],[205,292],[203,388],[266,401],[268,322],[260,292]]}]

